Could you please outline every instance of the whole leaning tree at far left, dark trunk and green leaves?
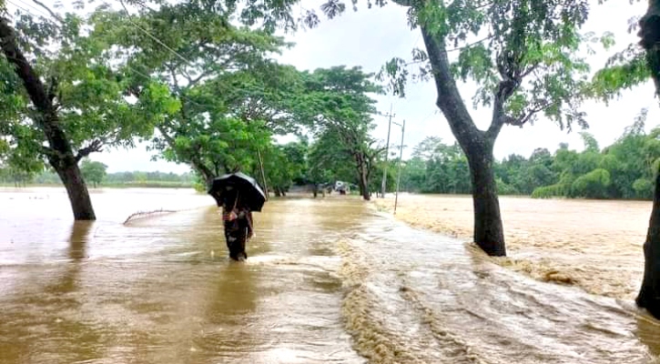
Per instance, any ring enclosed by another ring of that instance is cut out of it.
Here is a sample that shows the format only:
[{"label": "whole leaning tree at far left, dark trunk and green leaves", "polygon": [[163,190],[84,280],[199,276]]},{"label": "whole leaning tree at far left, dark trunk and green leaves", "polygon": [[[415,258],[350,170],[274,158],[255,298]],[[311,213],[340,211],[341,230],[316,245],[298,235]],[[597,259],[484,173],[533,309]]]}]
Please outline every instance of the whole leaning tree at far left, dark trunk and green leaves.
[{"label": "whole leaning tree at far left, dark trunk and green leaves", "polygon": [[126,84],[113,72],[106,45],[86,32],[86,20],[57,18],[59,24],[29,15],[14,25],[0,19],[0,72],[7,80],[0,134],[11,140],[10,153],[55,169],[76,220],[95,219],[78,162],[104,146],[131,146],[133,136],[151,134],[149,119],[140,116],[157,100],[128,102]]}]

